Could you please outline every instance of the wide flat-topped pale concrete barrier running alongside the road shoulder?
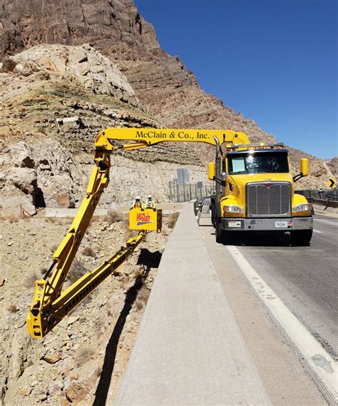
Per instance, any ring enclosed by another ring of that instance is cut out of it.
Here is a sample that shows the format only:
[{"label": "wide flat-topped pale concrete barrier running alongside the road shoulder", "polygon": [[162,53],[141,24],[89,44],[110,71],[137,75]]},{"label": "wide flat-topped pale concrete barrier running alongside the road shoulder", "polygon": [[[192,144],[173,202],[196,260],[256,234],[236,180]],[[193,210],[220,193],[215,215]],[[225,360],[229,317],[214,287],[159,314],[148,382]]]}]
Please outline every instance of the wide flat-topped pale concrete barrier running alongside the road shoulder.
[{"label": "wide flat-topped pale concrete barrier running alongside the road shoulder", "polygon": [[115,405],[269,405],[192,203],[163,253]]}]

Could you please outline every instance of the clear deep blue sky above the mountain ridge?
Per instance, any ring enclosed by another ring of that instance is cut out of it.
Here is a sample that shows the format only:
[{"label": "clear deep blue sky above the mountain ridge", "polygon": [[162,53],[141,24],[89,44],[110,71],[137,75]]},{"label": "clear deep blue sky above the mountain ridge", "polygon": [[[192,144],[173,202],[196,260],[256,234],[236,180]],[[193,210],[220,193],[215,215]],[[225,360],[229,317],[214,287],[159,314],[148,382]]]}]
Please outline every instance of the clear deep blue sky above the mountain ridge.
[{"label": "clear deep blue sky above the mountain ridge", "polygon": [[280,142],[337,151],[336,0],[135,0],[204,91]]}]

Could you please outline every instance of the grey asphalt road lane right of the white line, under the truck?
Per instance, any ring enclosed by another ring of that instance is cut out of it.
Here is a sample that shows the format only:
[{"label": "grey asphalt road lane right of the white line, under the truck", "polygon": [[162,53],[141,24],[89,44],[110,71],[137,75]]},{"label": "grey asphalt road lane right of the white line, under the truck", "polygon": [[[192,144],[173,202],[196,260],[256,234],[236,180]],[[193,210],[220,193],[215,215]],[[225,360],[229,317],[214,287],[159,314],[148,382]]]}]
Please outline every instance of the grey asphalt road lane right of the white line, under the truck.
[{"label": "grey asphalt road lane right of the white line, under the truck", "polygon": [[309,332],[338,359],[338,219],[316,215],[311,244],[256,234],[235,245]]}]

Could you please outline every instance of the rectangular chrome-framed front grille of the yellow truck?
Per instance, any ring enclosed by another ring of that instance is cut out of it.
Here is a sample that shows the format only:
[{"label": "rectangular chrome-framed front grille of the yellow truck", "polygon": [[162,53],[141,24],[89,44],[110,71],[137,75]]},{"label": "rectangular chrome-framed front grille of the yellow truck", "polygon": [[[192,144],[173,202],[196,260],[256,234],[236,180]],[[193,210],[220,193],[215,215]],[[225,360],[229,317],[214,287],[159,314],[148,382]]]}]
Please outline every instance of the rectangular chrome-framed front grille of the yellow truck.
[{"label": "rectangular chrome-framed front grille of the yellow truck", "polygon": [[290,215],[290,183],[247,184],[247,217]]}]

